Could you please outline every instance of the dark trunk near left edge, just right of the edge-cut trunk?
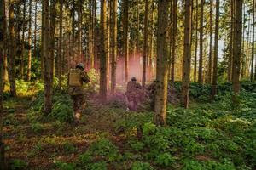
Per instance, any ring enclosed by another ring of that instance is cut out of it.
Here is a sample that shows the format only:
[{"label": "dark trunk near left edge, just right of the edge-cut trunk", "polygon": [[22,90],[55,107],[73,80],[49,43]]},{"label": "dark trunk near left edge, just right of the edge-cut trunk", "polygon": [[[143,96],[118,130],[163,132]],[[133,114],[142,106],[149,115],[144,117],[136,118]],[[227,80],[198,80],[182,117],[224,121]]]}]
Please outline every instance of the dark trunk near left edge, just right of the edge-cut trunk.
[{"label": "dark trunk near left edge, just right of the edge-cut trunk", "polygon": [[16,41],[15,41],[15,1],[9,0],[9,82],[10,94],[16,96],[15,84],[15,55],[16,55]]}]

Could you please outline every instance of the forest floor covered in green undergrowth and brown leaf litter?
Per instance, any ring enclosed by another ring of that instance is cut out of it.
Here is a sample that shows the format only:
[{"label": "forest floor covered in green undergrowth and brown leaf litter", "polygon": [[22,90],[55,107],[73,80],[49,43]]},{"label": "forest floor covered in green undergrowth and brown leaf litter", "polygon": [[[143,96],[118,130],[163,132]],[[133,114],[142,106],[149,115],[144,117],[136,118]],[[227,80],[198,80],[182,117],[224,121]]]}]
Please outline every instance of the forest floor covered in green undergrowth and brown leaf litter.
[{"label": "forest floor covered in green undergrowth and brown leaf litter", "polygon": [[[60,100],[67,102],[66,97]],[[63,114],[53,119],[38,111],[40,102],[35,96],[4,101],[11,169],[256,168],[253,92],[242,92],[237,99],[229,94],[213,102],[194,101],[189,110],[168,105],[167,127],[155,127],[150,111],[126,111],[90,100],[79,124],[65,122],[60,121],[68,119],[65,105],[54,105]]]}]

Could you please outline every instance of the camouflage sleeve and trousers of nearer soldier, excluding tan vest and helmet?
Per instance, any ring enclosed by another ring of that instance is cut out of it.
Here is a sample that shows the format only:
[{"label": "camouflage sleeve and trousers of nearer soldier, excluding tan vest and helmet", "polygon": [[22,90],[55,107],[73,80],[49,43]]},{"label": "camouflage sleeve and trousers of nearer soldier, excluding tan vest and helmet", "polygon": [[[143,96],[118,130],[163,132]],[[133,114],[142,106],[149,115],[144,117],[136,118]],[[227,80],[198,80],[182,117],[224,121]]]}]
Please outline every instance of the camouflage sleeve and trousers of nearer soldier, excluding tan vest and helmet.
[{"label": "camouflage sleeve and trousers of nearer soldier, excluding tan vest and helmet", "polygon": [[[80,77],[82,82],[90,82],[90,77],[88,77],[85,71],[82,71],[79,68],[76,68],[76,70],[80,71]],[[84,88],[82,86],[70,86],[68,89],[68,93],[71,95],[71,98],[73,99],[74,117],[77,120],[79,120],[81,113],[82,111],[84,111],[85,107]]]}]

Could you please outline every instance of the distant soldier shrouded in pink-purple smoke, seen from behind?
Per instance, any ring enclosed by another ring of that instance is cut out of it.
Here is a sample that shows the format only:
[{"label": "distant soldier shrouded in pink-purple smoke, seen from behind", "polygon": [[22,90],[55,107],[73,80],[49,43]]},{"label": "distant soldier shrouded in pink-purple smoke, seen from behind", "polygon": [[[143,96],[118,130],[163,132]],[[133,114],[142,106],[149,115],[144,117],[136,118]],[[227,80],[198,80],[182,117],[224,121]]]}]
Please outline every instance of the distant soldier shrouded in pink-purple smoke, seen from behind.
[{"label": "distant soldier shrouded in pink-purple smoke, seen from behind", "polygon": [[137,111],[140,94],[142,94],[142,86],[137,82],[136,77],[131,77],[131,81],[127,83],[126,96],[128,99],[128,107],[132,111]]}]

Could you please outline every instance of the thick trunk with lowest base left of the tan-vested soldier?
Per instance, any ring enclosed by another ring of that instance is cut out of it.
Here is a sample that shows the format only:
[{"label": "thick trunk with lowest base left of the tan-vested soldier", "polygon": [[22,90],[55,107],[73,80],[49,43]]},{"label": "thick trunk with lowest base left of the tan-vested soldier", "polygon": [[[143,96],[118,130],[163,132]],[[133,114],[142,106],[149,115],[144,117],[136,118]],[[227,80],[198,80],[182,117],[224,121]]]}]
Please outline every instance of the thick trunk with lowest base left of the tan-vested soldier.
[{"label": "thick trunk with lowest base left of the tan-vested soldier", "polygon": [[44,114],[48,115],[52,110],[52,75],[53,59],[51,56],[51,29],[49,24],[49,0],[43,1],[43,57],[44,57]]}]

